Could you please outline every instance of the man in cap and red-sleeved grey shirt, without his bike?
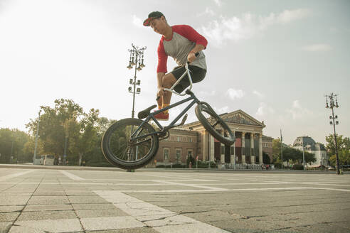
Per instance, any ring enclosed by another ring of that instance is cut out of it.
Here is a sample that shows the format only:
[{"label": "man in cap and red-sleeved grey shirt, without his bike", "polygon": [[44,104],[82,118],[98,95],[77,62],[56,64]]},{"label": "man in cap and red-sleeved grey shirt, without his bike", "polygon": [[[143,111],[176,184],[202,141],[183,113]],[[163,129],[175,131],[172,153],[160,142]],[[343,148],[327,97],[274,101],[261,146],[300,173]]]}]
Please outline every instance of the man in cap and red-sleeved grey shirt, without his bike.
[{"label": "man in cap and red-sleeved grey shirt, without his bike", "polygon": [[[164,88],[170,88],[179,80],[185,72],[185,65],[190,63],[189,70],[193,82],[201,82],[206,76],[206,57],[202,52],[206,48],[208,41],[188,25],[169,26],[163,13],[154,11],[149,13],[144,21],[144,26],[150,26],[156,33],[161,34],[158,46],[158,67],[157,67],[157,102],[158,108],[168,107],[171,99],[171,92],[164,92]],[[198,56],[196,57],[196,53]],[[174,58],[177,67],[167,73],[166,62],[168,56]],[[190,82],[187,77],[181,80],[174,90],[183,92],[189,87]],[[159,97],[159,98],[158,98]],[[168,120],[168,110],[155,115],[158,120]]]}]

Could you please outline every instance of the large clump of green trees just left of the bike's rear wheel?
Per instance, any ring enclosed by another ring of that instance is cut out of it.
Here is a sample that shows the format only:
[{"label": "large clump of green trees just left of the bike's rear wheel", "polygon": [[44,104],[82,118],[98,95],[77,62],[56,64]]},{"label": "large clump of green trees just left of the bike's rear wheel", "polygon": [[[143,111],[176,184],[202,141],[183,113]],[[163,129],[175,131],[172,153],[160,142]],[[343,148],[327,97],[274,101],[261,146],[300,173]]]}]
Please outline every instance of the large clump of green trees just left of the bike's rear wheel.
[{"label": "large clump of green trees just left of the bike's rear wheel", "polygon": [[[52,154],[55,158],[63,158],[65,140],[67,140],[67,160],[69,164],[80,165],[82,161],[89,163],[105,162],[100,149],[102,134],[111,121],[99,118],[98,109],[90,109],[88,113],[71,99],[56,99],[55,106],[41,106],[42,114],[39,124],[40,153]],[[38,118],[26,124],[29,132],[35,136]],[[26,144],[31,151],[32,141]]]}]

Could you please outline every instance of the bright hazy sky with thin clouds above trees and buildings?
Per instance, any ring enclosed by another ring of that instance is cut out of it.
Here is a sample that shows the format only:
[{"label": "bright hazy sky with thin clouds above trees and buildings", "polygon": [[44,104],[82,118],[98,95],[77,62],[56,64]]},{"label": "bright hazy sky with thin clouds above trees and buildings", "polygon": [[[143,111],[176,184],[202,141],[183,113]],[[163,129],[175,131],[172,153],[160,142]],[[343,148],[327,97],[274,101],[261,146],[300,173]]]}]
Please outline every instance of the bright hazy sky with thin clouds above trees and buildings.
[{"label": "bright hazy sky with thin clouds above trees and buildings", "polygon": [[[132,43],[147,46],[135,112],[156,104],[161,36],[142,26],[152,11],[208,40],[208,72],[193,92],[216,112],[241,109],[264,121],[267,136],[280,137],[282,129],[287,144],[303,135],[325,143],[333,127],[324,95],[333,92],[337,134],[350,136],[346,0],[0,0],[0,128],[27,131],[40,106],[60,98],[108,119],[131,117]],[[174,66],[169,58],[168,70]],[[170,119],[183,108],[171,109]]]}]

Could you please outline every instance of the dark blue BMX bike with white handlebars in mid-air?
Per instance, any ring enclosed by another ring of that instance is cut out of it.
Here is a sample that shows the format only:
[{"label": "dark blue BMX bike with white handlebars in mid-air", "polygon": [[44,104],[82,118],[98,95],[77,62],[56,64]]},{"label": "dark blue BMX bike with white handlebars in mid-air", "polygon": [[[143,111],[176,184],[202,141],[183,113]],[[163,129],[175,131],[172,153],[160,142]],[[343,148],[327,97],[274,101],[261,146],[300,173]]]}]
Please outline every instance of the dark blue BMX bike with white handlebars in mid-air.
[{"label": "dark blue BMX bike with white handlebars in mid-air", "polygon": [[[184,74],[181,75],[179,80],[177,80],[170,89],[164,88],[164,91],[173,92],[181,96],[188,94],[190,97],[171,104],[168,107],[164,107],[163,109],[151,112],[152,109],[157,107],[157,105],[154,104],[139,112],[139,119],[121,119],[112,124],[107,131],[105,131],[105,134],[102,136],[101,147],[102,153],[108,162],[127,170],[146,166],[156,155],[159,148],[159,140],[169,137],[169,129],[184,125],[187,119],[186,112],[189,111],[193,104],[197,104],[195,112],[198,120],[201,121],[201,124],[212,136],[226,146],[230,146],[235,142],[235,136],[223,119],[214,112],[208,103],[201,102],[197,99],[195,94],[191,92],[192,78],[191,71],[189,70],[189,63],[185,65],[185,69]],[[175,92],[174,87],[176,87],[186,75],[189,78],[190,86],[182,94]],[[154,115],[160,112],[164,112],[167,109],[171,109],[186,102],[190,103],[168,126],[161,126],[159,121],[154,117]],[[182,116],[184,117],[181,122],[176,124]],[[149,124],[151,120],[154,121],[157,127]]]}]

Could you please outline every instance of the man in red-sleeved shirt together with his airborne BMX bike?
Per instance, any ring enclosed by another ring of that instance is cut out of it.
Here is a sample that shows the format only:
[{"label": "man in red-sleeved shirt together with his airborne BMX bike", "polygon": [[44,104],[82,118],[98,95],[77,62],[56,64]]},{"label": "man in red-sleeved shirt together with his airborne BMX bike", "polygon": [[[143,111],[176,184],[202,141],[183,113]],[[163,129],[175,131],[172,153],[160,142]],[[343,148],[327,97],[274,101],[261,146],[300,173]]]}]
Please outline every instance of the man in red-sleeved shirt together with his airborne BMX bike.
[{"label": "man in red-sleeved shirt together with his airborne BMX bike", "polygon": [[[186,25],[169,26],[166,18],[159,11],[149,13],[144,26],[151,26],[162,35],[158,47],[157,67],[157,102],[159,109],[151,112],[157,105],[152,105],[139,112],[138,118],[121,119],[112,124],[102,137],[102,152],[107,161],[124,169],[136,169],[146,166],[157,154],[159,140],[169,136],[169,129],[184,124],[186,112],[194,105],[196,116],[204,128],[218,141],[232,145],[235,136],[228,125],[206,102],[201,102],[191,92],[192,82],[200,82],[206,76],[206,59],[203,49],[206,48],[206,38]],[[168,56],[174,58],[179,65],[167,73]],[[181,92],[185,93],[181,94]],[[171,94],[189,95],[174,104],[170,104]],[[175,117],[168,126],[161,126],[160,120],[168,120],[168,110],[185,102],[189,105]],[[184,116],[181,123],[176,124]],[[157,127],[151,126],[154,121]],[[204,155],[203,155],[203,158]]]}]

